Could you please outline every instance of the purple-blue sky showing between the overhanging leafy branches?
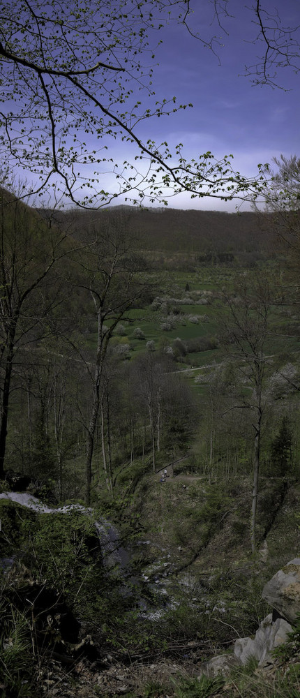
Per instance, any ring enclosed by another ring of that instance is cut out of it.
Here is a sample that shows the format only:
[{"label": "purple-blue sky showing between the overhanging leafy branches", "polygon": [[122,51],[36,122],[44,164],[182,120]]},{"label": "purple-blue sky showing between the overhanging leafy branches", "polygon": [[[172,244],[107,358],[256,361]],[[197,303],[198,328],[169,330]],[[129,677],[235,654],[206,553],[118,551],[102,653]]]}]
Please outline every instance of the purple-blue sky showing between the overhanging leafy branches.
[{"label": "purple-blue sky showing between the overhanging leafy branches", "polygon": [[[70,2],[67,2],[63,0],[63,2],[58,2],[55,0],[52,4],[50,0],[46,0],[45,8],[56,7],[57,10],[58,7],[60,12],[63,6],[65,8],[65,21],[68,22],[68,13],[70,9],[75,9],[78,3],[81,7],[80,3],[84,4],[84,1],[85,0],[70,0]],[[163,99],[172,100],[172,98],[176,96],[178,106],[181,104],[193,103],[193,107],[187,107],[185,110],[179,109],[177,112],[170,114],[170,116],[160,117],[159,119],[155,116],[149,119],[141,119],[135,127],[135,133],[142,142],[147,143],[147,140],[151,139],[155,141],[158,146],[160,143],[167,142],[173,154],[176,144],[181,142],[183,143],[183,156],[187,161],[190,161],[192,158],[197,161],[200,156],[207,151],[211,151],[213,156],[218,160],[222,160],[224,156],[232,154],[234,156],[232,161],[233,169],[235,171],[238,170],[245,177],[255,177],[257,175],[258,163],[272,163],[272,158],[278,158],[280,154],[283,154],[287,158],[294,154],[300,157],[300,0],[277,1],[279,3],[278,12],[280,13],[280,20],[278,19],[279,15],[276,10],[276,0],[260,0],[264,27],[268,33],[268,27],[272,27],[274,22],[277,21],[282,23],[280,25],[281,27],[295,28],[291,36],[295,46],[294,63],[296,64],[296,68],[299,68],[299,73],[297,73],[297,69],[295,70],[291,67],[280,68],[276,78],[276,87],[270,85],[255,85],[253,84],[253,77],[255,76],[250,75],[249,77],[245,75],[245,66],[257,64],[257,56],[260,56],[264,51],[264,44],[262,42],[260,43],[260,41],[258,43],[255,42],[259,27],[257,27],[257,18],[255,18],[253,13],[253,4],[256,6],[257,0],[248,0],[249,4],[246,4],[243,0],[190,0],[190,7],[193,10],[187,18],[190,31],[182,26],[182,24],[178,24],[175,19],[172,20],[172,15],[170,22],[168,22],[163,29],[160,29],[160,31],[154,29],[149,30],[149,54],[142,56],[142,64],[144,65],[145,62],[147,64],[148,59],[149,64],[153,64],[153,89],[156,95],[153,100],[161,102]],[[182,2],[183,0],[174,0],[172,2],[173,10],[179,8]],[[39,5],[41,0],[36,0],[36,3]],[[126,6],[129,8],[131,7],[131,9],[132,7],[135,8],[137,0],[122,0],[122,3],[121,6],[124,8],[125,13]],[[220,23],[218,23],[214,13],[215,3],[218,8],[220,8]],[[120,7],[119,0],[112,0],[111,3],[109,0],[103,0],[103,3],[101,3],[100,0],[97,0],[97,2],[91,0],[91,3],[87,2],[91,15],[91,22],[94,22],[93,4],[95,4],[98,19],[102,17],[101,12],[103,7],[106,9],[108,8],[109,18],[114,6],[116,8]],[[165,4],[167,5],[167,0],[165,0]],[[15,0],[15,5],[16,7],[18,6],[18,0]],[[25,8],[24,24],[26,24],[25,20],[29,12],[27,6],[27,2],[23,3],[23,8]],[[144,0],[142,9],[144,10],[147,6],[148,8],[154,8],[154,13],[155,11],[157,12],[157,10],[155,10],[155,8],[157,8],[155,1]],[[222,10],[226,9],[230,14],[226,15],[226,13],[222,13]],[[265,11],[267,11],[267,15]],[[75,13],[73,13],[73,15],[75,15]],[[72,15],[70,15],[70,17],[72,17]],[[82,17],[83,20],[81,15],[79,20],[82,22],[82,55],[84,56],[84,60],[86,60],[86,46],[89,46],[91,56],[93,54],[91,50],[91,39],[89,43],[89,30],[86,29],[86,26],[91,27],[91,24],[87,25],[85,23],[87,20],[84,19],[84,13],[82,13]],[[99,25],[100,27],[104,27],[100,29],[100,31],[103,31],[105,40],[108,40],[107,21],[106,19],[105,24]],[[102,22],[102,19],[100,19],[100,22]],[[6,23],[8,24],[9,31],[10,15],[6,17]],[[93,24],[93,29],[94,26]],[[131,25],[130,31],[132,32]],[[195,34],[198,38],[192,36],[192,34]],[[96,36],[98,42],[98,34],[96,34]],[[215,37],[213,43],[214,52],[203,44],[203,41],[209,42],[213,36]],[[54,51],[56,39],[53,39],[52,34],[49,34],[49,37],[51,40],[54,40]],[[285,40],[285,35],[280,35],[280,31],[278,31],[277,38],[282,42]],[[30,38],[27,37],[27,34],[25,33],[23,36],[23,34],[20,33],[20,41],[25,42],[23,49],[25,58],[27,57],[27,40],[29,40],[30,44]],[[48,40],[47,31],[45,40],[46,42]],[[155,54],[153,60],[151,59],[152,53]],[[95,55],[98,57],[98,53],[93,54],[91,60],[94,59]],[[106,59],[107,56],[110,57],[110,48],[107,50]],[[50,50],[50,57],[54,61],[55,68],[56,56],[52,53],[52,49]],[[92,63],[92,65],[94,65],[94,63]],[[109,74],[112,75],[112,73]],[[116,73],[113,73],[113,75],[116,75]],[[31,84],[33,85],[33,96],[35,99],[36,76],[33,76],[32,79],[33,82]],[[49,80],[52,80],[52,78],[49,78]],[[10,84],[9,80],[8,84]],[[13,90],[14,82],[12,81],[11,84],[13,87],[10,87],[10,89]],[[112,84],[114,85],[114,82],[112,82]],[[100,82],[97,83],[97,87],[100,89]],[[106,84],[102,87],[102,94],[100,89],[100,98],[103,100],[105,99]],[[133,82],[134,94],[132,100],[133,104],[137,99],[142,100],[141,110],[143,112],[147,106],[151,105],[151,99],[149,101],[147,91],[140,92],[137,87],[137,82]],[[73,107],[72,89],[73,86],[71,87],[70,99],[66,101],[66,104],[71,105],[71,107]],[[60,89],[58,89],[56,93],[54,88],[54,95],[56,94],[60,94]],[[17,114],[20,114],[19,100],[21,99],[22,101],[20,95],[22,95],[22,91],[16,94],[13,94],[13,92],[10,93],[10,99],[12,100],[14,108],[17,110]],[[61,133],[63,132],[63,126],[61,126],[61,108],[62,113],[66,116],[66,120],[72,121],[70,112],[68,112],[68,106],[64,106],[64,97],[65,95],[63,94],[63,102],[61,104],[58,103],[57,112],[55,112],[57,117],[58,144]],[[32,102],[33,107],[34,99]],[[6,100],[6,103],[6,107],[9,110],[10,104],[8,100]],[[114,108],[114,105],[110,105],[109,101],[107,101],[107,105]],[[126,109],[121,103],[118,106],[119,110]],[[43,105],[43,110],[45,114],[47,114],[46,102]],[[93,110],[93,103],[91,105],[91,110]],[[71,114],[72,113],[74,112],[72,112],[71,109]],[[100,114],[98,114],[98,117],[99,116],[102,117],[103,113],[100,112]],[[116,191],[115,187],[119,186],[121,179],[115,179],[115,174],[122,170],[124,160],[135,163],[134,158],[137,154],[136,147],[128,144],[126,140],[122,141],[120,137],[114,140],[108,136],[103,136],[103,129],[101,128],[99,129],[99,136],[97,136],[96,128],[93,126],[90,131],[89,129],[84,131],[85,126],[82,126],[82,131],[80,131],[80,126],[77,126],[75,123],[75,117],[73,121],[75,124],[73,126],[73,131],[71,128],[67,136],[69,139],[68,147],[73,144],[72,138],[74,138],[74,141],[77,140],[75,149],[79,147],[80,152],[82,142],[87,140],[87,150],[93,151],[94,149],[98,149],[101,157],[101,152],[105,152],[104,149],[107,144],[107,157],[112,158],[113,165],[110,166],[110,164],[105,162],[99,165],[99,184],[97,182],[95,187],[97,193],[101,188],[106,191]],[[79,121],[79,123],[82,122]],[[100,121],[98,123],[100,123]],[[36,130],[38,131],[40,128],[40,133],[43,135],[43,128],[47,127],[44,126],[43,120],[40,120],[40,122],[38,121],[37,124],[39,125],[35,127]],[[20,128],[21,127],[22,123]],[[48,129],[50,130],[50,124],[48,124]],[[88,133],[87,136],[86,133]],[[23,143],[22,131],[20,134],[19,147],[22,156],[22,151],[25,153],[27,152],[27,143]],[[105,140],[105,138],[107,138],[107,140]],[[30,139],[28,139],[28,144],[29,140]],[[48,140],[51,151],[51,133],[50,138],[48,135]],[[80,144],[79,146],[78,143]],[[32,149],[30,153],[31,152]],[[71,150],[68,151],[68,154],[70,153],[72,153]],[[77,186],[77,184],[80,186],[84,176],[91,180],[95,174],[96,165],[90,165],[89,161],[86,163],[84,157],[81,155],[80,158],[78,168],[81,168],[81,170],[80,172],[76,172],[75,186]],[[38,160],[38,156],[36,159]],[[48,154],[46,160],[47,159]],[[27,162],[29,162],[29,158]],[[42,162],[45,163],[45,160]],[[34,150],[30,163],[32,166],[31,168],[29,166],[29,172],[32,174],[32,170],[34,170],[35,166]],[[115,170],[113,174],[109,170],[112,170],[116,163],[119,170]],[[170,163],[175,165],[175,159],[173,158]],[[140,165],[142,172],[146,171],[146,165],[143,165],[140,161],[137,161],[137,164]],[[52,162],[50,162],[50,165],[47,165],[47,167],[49,171],[52,170]],[[46,176],[47,168],[43,170],[43,164],[41,165],[41,170],[42,176]],[[20,172],[20,176],[24,176],[22,171]],[[57,175],[55,174],[53,177],[57,177]],[[38,174],[36,174],[36,181],[33,180],[33,186],[38,186],[39,182]],[[50,191],[53,190],[50,189]],[[88,193],[89,195],[89,188],[84,193]],[[81,195],[82,192],[79,191],[78,197]],[[115,201],[120,204],[124,200],[125,196],[121,195]],[[237,205],[239,205],[239,201],[237,200],[223,202],[218,198],[207,197],[191,199],[190,195],[184,192],[180,195],[170,196],[168,201],[169,206],[181,209],[198,208],[234,211]],[[45,205],[52,203],[52,201],[49,199],[47,200],[47,198],[45,198],[43,202]],[[68,202],[66,203],[68,205]],[[148,201],[146,200],[143,203],[147,205]],[[159,204],[156,202],[153,205]],[[250,203],[243,204],[243,209],[250,209]]]}]

